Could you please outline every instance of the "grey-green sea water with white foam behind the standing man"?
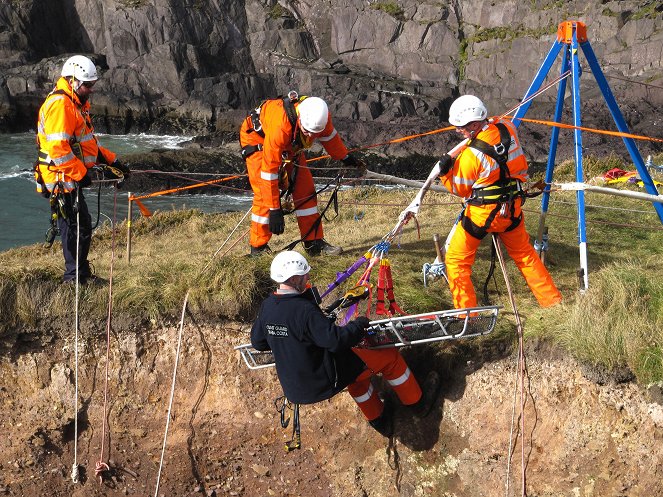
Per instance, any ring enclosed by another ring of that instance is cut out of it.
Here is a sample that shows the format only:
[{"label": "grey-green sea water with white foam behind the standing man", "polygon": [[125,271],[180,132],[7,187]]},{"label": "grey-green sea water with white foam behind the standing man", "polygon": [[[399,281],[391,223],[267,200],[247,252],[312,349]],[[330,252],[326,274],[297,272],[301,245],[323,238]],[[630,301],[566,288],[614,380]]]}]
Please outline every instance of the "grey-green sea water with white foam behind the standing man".
[{"label": "grey-green sea water with white foam behind the standing man", "polygon": [[[188,138],[161,135],[97,135],[102,146],[122,154],[148,152],[155,148],[180,148]],[[32,166],[37,157],[34,133],[0,134],[0,251],[13,247],[42,243],[50,226],[50,206],[35,189]],[[114,189],[102,187],[99,224],[113,218]],[[86,191],[92,222],[97,218],[97,189]],[[132,192],[134,195],[149,192]],[[203,212],[247,210],[250,193],[218,195],[166,195],[150,198],[146,206],[154,210],[195,208]],[[120,190],[117,198],[118,222],[127,216],[127,192]],[[138,216],[137,209],[134,217]]]}]

